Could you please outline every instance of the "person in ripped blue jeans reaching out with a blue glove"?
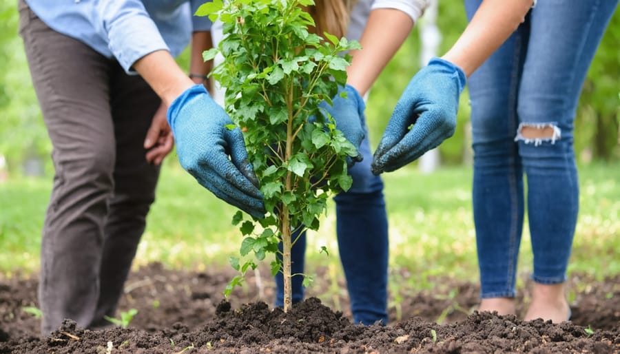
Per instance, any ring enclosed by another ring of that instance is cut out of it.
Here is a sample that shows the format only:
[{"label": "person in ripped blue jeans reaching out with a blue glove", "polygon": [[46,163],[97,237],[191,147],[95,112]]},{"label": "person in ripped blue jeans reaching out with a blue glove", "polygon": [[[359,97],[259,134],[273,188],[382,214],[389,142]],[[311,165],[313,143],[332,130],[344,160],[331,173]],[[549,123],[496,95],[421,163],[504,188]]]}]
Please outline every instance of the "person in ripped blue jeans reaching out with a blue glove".
[{"label": "person in ripped blue jeans reaching out with a blue glove", "polygon": [[[581,85],[617,4],[466,0],[467,28],[442,58],[413,76],[397,102],[373,156],[375,174],[411,163],[454,133],[459,94],[470,78],[479,311],[515,313],[527,189],[534,286],[524,319],[570,317],[564,283],[579,207],[573,121]],[[380,46],[371,37],[380,32],[372,28],[380,31],[380,23],[392,23],[394,16],[373,21],[371,15],[362,54]],[[382,55],[366,67],[385,62],[388,55]],[[364,65],[356,66],[354,58],[352,67]]]}]

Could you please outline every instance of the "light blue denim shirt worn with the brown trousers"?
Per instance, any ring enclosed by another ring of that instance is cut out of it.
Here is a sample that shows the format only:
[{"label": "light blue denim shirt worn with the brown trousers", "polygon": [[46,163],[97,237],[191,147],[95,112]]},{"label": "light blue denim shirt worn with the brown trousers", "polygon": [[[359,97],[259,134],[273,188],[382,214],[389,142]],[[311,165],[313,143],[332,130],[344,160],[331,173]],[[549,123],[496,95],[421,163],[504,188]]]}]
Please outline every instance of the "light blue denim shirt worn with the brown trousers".
[{"label": "light blue denim shirt worn with the brown trousers", "polygon": [[208,17],[193,16],[205,0],[25,0],[56,32],[82,41],[123,69],[156,50],[177,56],[192,31],[208,31]]}]

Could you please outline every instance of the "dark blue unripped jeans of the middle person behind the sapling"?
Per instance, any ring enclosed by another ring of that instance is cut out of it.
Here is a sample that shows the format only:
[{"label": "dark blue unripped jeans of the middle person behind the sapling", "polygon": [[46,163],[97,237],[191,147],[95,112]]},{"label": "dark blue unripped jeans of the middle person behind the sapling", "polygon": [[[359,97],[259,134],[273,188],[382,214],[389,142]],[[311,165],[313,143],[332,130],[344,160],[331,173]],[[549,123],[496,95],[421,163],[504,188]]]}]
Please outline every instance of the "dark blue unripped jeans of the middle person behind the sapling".
[{"label": "dark blue unripped jeans of the middle person behind the sapling", "polygon": [[[368,132],[366,131],[366,136]],[[340,261],[347,280],[351,313],[356,324],[386,324],[388,223],[383,197],[383,182],[371,173],[371,154],[368,138],[362,141],[360,152],[364,160],[349,169],[353,185],[349,191],[335,196],[336,232]],[[296,236],[293,235],[293,240]],[[281,245],[280,245],[281,249]],[[306,234],[298,238],[291,249],[291,272],[304,272]],[[293,304],[304,298],[303,278],[291,280]],[[284,304],[284,279],[276,275],[276,306]]]}]

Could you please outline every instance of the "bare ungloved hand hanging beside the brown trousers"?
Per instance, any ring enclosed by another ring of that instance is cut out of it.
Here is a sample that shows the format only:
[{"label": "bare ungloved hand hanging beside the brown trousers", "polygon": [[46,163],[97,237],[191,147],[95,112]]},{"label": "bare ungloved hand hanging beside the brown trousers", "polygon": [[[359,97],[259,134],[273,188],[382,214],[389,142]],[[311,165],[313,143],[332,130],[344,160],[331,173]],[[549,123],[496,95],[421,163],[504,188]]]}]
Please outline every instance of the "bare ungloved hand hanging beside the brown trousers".
[{"label": "bare ungloved hand hanging beside the brown trousers", "polygon": [[144,148],[147,149],[147,162],[160,165],[167,154],[172,151],[173,146],[172,129],[166,121],[166,105],[162,103],[153,116],[153,121],[144,140]]}]

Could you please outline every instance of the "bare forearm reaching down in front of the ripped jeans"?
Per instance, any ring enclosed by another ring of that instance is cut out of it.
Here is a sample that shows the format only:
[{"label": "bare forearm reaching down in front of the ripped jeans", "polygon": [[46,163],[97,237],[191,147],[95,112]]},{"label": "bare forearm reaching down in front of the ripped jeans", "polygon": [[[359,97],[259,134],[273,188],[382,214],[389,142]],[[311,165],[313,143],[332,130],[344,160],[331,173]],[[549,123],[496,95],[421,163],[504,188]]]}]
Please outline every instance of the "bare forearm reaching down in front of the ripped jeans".
[{"label": "bare forearm reaching down in front of the ripped jeans", "polygon": [[456,43],[442,56],[470,76],[523,22],[533,0],[484,0]]}]

